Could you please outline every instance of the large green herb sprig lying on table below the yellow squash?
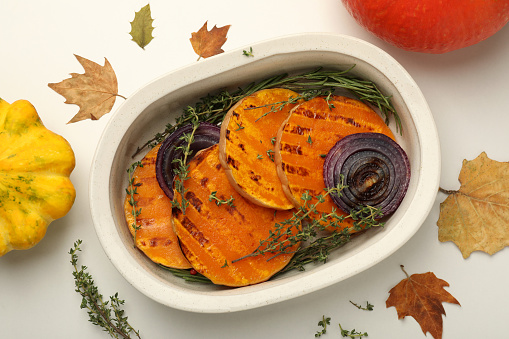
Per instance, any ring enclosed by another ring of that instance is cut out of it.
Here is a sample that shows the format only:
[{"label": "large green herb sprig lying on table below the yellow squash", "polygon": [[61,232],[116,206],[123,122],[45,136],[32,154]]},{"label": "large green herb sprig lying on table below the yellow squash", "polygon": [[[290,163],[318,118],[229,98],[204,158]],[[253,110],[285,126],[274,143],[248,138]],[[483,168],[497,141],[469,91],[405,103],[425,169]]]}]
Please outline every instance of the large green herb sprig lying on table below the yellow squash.
[{"label": "large green herb sprig lying on table below the yellow squash", "polygon": [[118,298],[118,293],[110,297],[109,301],[103,301],[103,296],[95,286],[94,280],[90,273],[86,271],[86,266],[78,269],[78,251],[81,251],[80,245],[82,241],[77,240],[69,251],[71,255],[71,264],[74,267],[72,272],[74,276],[74,284],[76,292],[81,297],[80,308],[88,309],[89,321],[97,326],[102,327],[103,331],[108,332],[112,338],[131,338],[131,334],[137,338],[140,332],[136,331],[127,321],[124,310],[121,309],[125,301]]}]

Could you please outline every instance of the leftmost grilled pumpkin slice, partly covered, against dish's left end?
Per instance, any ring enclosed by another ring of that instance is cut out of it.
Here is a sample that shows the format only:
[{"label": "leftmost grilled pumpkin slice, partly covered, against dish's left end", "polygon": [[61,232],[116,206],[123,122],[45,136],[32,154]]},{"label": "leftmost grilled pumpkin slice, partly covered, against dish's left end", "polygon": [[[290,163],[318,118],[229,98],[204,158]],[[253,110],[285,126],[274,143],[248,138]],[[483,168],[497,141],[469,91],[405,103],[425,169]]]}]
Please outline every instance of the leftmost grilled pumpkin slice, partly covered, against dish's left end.
[{"label": "leftmost grilled pumpkin slice, partly covered, against dish's left end", "polygon": [[135,232],[132,225],[140,227],[136,231],[136,247],[157,264],[173,268],[190,268],[191,265],[180,249],[179,241],[171,223],[171,200],[164,194],[156,179],[156,159],[160,144],[152,148],[141,160],[142,166],[136,167],[132,179],[137,194],[134,200],[136,209],[141,213],[133,215],[133,207],[129,203],[131,196],[126,195],[124,214],[131,235]]}]

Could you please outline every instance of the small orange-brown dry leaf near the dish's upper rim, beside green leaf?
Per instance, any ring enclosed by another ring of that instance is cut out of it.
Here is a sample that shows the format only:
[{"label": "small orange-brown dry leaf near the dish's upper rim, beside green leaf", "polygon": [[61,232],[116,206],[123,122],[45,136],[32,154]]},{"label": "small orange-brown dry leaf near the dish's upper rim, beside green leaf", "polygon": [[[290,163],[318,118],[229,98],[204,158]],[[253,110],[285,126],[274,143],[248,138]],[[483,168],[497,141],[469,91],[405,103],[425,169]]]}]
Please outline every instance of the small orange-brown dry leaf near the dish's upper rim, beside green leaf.
[{"label": "small orange-brown dry leaf near the dish's upper rim, beside green leaf", "polygon": [[207,21],[203,24],[198,32],[191,33],[191,45],[200,58],[209,58],[216,54],[223,53],[221,49],[226,42],[226,34],[230,29],[230,25],[223,27],[214,26],[210,31],[207,30]]}]

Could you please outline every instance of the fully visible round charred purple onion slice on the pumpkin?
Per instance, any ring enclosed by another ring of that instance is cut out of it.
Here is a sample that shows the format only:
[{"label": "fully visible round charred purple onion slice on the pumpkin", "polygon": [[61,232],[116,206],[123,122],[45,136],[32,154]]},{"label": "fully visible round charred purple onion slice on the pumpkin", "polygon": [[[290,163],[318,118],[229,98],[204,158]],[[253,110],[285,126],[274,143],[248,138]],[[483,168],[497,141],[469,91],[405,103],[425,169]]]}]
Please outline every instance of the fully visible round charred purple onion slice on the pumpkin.
[{"label": "fully visible round charred purple onion slice on the pumpkin", "polygon": [[410,162],[405,151],[380,133],[356,133],[339,140],[327,153],[323,166],[325,186],[347,185],[331,194],[346,213],[359,206],[380,208],[387,216],[401,204],[410,182]]}]

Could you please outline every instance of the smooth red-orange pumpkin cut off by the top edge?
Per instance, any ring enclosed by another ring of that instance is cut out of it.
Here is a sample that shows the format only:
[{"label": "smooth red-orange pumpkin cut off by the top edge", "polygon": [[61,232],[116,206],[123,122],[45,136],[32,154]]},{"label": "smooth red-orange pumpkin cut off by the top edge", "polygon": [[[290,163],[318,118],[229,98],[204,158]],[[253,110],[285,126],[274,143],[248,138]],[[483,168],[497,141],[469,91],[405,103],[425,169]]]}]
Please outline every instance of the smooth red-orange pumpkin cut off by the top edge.
[{"label": "smooth red-orange pumpkin cut off by the top edge", "polygon": [[507,0],[342,0],[380,39],[407,51],[446,53],[474,45],[509,21]]}]

